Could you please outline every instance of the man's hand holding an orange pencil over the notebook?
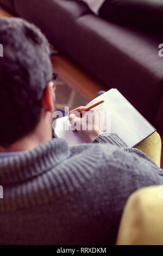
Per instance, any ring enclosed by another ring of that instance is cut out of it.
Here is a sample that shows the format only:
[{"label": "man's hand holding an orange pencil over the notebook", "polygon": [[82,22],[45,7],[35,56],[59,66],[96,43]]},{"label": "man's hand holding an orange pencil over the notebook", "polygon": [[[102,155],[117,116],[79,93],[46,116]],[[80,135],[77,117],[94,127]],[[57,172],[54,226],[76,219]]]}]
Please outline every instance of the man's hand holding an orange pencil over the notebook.
[{"label": "man's hand holding an orange pencil over the notebook", "polygon": [[87,141],[92,142],[98,135],[103,133],[101,116],[97,108],[92,108],[87,112],[83,112],[82,117],[76,116],[80,111],[84,111],[87,107],[78,107],[68,113],[72,131],[78,131],[79,134]]}]

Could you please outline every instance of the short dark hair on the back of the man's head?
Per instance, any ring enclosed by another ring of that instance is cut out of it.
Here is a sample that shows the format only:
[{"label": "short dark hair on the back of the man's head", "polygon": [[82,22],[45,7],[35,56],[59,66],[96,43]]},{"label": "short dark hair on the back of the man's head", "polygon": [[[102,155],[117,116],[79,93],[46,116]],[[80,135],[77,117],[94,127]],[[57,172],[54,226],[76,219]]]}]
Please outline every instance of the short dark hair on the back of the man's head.
[{"label": "short dark hair on the back of the man's head", "polygon": [[8,147],[39,122],[52,64],[47,39],[22,19],[0,19],[0,44],[0,145]]}]

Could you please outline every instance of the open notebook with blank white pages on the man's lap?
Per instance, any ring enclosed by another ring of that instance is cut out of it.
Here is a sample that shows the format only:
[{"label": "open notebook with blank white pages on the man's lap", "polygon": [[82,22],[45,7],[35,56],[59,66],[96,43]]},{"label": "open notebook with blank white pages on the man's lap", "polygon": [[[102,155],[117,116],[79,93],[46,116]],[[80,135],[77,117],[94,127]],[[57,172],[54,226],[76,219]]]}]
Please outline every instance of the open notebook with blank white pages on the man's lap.
[{"label": "open notebook with blank white pages on the man's lap", "polygon": [[[104,103],[96,108],[98,108],[99,111],[110,113],[108,131],[116,133],[126,142],[128,147],[134,147],[155,132],[154,127],[142,117],[117,89],[108,90],[108,92],[89,102],[87,106],[89,107],[101,100],[104,100]],[[69,126],[67,117],[55,120],[54,136],[64,138],[70,145],[86,143],[78,132],[66,130],[67,128],[62,129],[62,127],[67,126]]]}]

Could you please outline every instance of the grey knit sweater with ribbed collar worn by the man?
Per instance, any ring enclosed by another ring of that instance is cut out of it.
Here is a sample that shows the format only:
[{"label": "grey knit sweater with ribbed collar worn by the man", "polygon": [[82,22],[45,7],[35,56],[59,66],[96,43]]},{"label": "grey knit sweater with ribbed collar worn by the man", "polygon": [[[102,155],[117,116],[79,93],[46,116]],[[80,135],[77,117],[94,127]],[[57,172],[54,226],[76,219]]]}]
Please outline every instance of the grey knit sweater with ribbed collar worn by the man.
[{"label": "grey knit sweater with ribbed collar worn by the man", "polygon": [[53,139],[0,159],[1,244],[114,244],[124,205],[162,169],[113,133],[69,147]]}]

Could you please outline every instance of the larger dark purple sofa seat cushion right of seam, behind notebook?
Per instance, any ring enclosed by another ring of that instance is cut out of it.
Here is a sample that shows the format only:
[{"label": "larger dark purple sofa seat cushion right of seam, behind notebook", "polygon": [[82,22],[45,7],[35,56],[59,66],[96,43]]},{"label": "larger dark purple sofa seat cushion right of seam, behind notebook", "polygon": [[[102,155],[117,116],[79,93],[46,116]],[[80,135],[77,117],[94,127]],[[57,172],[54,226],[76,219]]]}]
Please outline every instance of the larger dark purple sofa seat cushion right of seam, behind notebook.
[{"label": "larger dark purple sofa seat cushion right of seam, behind notebook", "polygon": [[78,18],[74,35],[71,56],[153,121],[162,98],[161,39],[93,15]]}]

